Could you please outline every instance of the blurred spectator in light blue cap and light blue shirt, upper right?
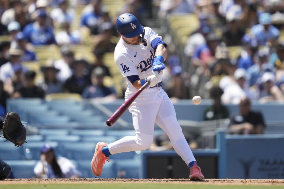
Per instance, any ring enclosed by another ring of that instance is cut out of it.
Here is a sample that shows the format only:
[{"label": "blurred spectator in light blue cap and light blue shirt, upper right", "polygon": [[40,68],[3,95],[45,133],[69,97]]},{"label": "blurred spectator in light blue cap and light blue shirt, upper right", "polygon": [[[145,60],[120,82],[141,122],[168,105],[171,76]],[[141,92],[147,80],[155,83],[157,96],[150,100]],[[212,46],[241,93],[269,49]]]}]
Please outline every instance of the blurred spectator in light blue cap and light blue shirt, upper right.
[{"label": "blurred spectator in light blue cap and light blue shirt, upper right", "polygon": [[251,35],[259,45],[272,44],[278,39],[280,32],[272,25],[271,15],[264,12],[259,15],[259,24],[251,27]]}]

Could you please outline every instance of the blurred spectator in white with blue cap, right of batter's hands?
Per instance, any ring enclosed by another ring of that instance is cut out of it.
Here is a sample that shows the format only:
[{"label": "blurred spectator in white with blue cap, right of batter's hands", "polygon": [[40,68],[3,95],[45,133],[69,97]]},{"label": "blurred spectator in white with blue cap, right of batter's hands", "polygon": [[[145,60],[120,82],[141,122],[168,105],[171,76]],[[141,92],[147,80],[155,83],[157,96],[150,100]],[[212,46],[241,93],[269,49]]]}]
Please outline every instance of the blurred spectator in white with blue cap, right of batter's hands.
[{"label": "blurred spectator in white with blue cap, right of batter's hands", "polygon": [[184,53],[191,57],[193,52],[200,46],[206,44],[206,36],[211,31],[207,25],[202,25],[199,30],[188,37]]}]

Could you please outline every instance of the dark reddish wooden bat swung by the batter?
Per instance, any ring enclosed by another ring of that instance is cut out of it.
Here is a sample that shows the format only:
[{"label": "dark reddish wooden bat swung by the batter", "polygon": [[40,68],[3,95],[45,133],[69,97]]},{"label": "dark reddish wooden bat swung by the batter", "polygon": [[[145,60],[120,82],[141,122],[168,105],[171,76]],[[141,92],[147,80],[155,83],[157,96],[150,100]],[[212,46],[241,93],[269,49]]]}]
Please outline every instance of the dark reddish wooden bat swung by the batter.
[{"label": "dark reddish wooden bat swung by the batter", "polygon": [[106,125],[111,127],[122,116],[122,114],[128,109],[132,102],[138,97],[138,95],[146,89],[150,82],[146,82],[137,92],[135,92],[128,100],[126,100],[113,114],[106,120]]}]

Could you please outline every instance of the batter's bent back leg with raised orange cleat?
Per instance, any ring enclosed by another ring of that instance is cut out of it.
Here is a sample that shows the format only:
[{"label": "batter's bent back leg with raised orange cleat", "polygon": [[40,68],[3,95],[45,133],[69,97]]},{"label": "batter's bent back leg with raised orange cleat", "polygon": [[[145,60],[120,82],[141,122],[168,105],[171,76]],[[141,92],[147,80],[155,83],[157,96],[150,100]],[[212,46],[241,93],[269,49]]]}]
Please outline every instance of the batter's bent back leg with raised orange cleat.
[{"label": "batter's bent back leg with raised orange cleat", "polygon": [[[156,97],[153,99],[153,97]],[[96,145],[95,154],[91,162],[91,169],[94,175],[101,175],[105,160],[108,156],[121,152],[145,150],[150,147],[154,137],[154,124],[156,114],[162,98],[156,94],[144,93],[144,97],[136,99],[130,106],[135,136],[125,136],[122,139],[110,144],[99,142]]]}]

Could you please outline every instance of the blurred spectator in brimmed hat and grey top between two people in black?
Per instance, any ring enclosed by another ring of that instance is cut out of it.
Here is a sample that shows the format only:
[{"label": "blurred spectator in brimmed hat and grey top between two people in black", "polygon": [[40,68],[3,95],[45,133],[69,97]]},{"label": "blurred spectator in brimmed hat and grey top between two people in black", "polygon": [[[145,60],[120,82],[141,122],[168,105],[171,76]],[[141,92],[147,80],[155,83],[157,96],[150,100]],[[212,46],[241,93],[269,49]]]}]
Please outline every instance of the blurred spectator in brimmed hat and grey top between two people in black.
[{"label": "blurred spectator in brimmed hat and grey top between two people in black", "polygon": [[38,86],[41,87],[45,94],[57,93],[62,91],[62,83],[56,78],[59,69],[54,67],[52,60],[48,60],[46,65],[41,66],[44,80],[39,82]]}]

